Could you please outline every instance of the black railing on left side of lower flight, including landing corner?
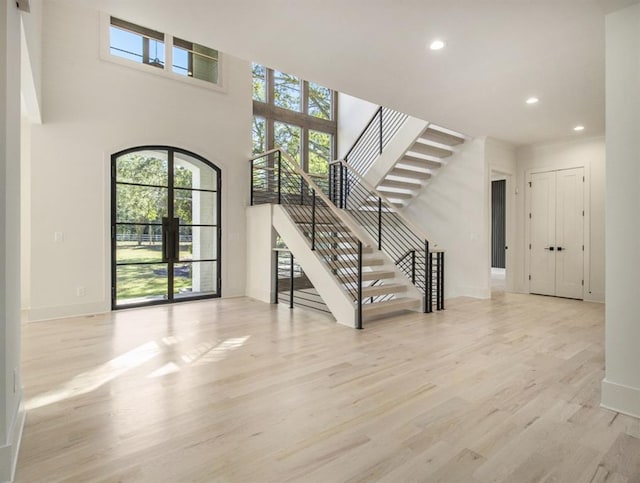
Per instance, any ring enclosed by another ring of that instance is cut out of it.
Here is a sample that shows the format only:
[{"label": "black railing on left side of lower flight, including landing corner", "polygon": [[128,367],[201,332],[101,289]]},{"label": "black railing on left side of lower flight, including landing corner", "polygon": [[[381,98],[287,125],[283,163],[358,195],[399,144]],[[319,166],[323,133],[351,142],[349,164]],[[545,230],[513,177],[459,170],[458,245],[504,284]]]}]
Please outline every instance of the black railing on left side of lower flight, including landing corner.
[{"label": "black railing on left side of lower flight, including landing corner", "polygon": [[361,228],[282,149],[259,154],[249,162],[251,205],[277,203],[285,207],[311,250],[331,268],[353,299],[355,326],[361,329],[362,249],[368,245]]}]

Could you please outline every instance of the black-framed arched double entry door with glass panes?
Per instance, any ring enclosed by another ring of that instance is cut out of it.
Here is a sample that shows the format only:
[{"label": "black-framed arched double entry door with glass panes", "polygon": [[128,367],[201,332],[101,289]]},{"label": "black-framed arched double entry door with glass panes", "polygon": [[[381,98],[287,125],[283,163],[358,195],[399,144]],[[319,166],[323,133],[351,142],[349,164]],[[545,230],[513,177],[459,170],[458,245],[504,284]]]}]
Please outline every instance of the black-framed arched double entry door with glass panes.
[{"label": "black-framed arched double entry door with glass panes", "polygon": [[111,156],[112,307],[220,296],[220,170],[183,149]]}]

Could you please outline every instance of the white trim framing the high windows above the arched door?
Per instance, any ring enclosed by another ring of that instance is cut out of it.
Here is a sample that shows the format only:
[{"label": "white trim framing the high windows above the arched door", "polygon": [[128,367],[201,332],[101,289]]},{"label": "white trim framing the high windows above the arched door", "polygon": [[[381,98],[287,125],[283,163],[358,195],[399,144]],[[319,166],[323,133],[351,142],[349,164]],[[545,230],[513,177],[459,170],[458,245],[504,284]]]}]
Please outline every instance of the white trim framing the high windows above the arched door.
[{"label": "white trim framing the high windows above the arched door", "polygon": [[170,35],[167,33],[164,34],[165,67],[163,67],[162,69],[158,67],[153,67],[152,65],[133,62],[131,60],[124,59],[122,57],[111,55],[109,52],[109,48],[110,48],[109,26],[110,25],[111,25],[111,15],[106,12],[100,12],[100,28],[99,28],[100,59],[110,62],[112,64],[118,64],[125,67],[129,67],[130,69],[138,70],[140,72],[145,72],[147,74],[153,74],[159,77],[164,77],[165,79],[184,82],[185,84],[189,84],[191,86],[202,87],[204,89],[217,91],[221,93],[227,92],[226,86],[224,84],[224,75],[225,75],[224,73],[226,71],[225,55],[219,50],[218,50],[218,82],[214,84],[213,82],[208,82],[201,79],[195,79],[193,77],[187,77],[180,74],[176,74],[175,72],[173,72],[172,68],[167,68],[167,66],[171,67],[173,65],[173,35]]}]

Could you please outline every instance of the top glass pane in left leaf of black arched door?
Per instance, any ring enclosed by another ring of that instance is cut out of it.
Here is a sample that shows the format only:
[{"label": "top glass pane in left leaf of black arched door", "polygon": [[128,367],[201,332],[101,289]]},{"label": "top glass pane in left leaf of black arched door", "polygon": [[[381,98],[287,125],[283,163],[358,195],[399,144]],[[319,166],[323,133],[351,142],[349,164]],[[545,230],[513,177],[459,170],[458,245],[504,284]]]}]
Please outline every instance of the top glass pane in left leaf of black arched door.
[{"label": "top glass pane in left leaf of black arched door", "polygon": [[166,151],[135,151],[116,161],[116,181],[169,186]]}]

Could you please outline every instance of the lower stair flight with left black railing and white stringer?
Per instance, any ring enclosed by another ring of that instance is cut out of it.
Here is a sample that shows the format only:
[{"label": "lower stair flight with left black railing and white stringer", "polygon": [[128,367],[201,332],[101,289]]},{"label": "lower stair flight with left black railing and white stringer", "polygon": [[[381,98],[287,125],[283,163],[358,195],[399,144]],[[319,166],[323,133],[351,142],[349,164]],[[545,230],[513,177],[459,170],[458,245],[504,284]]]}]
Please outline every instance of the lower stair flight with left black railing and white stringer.
[{"label": "lower stair flight with left black railing and white stringer", "polygon": [[362,328],[425,307],[394,261],[286,153],[272,150],[251,163],[252,204],[273,204],[272,226],[338,322]]}]

